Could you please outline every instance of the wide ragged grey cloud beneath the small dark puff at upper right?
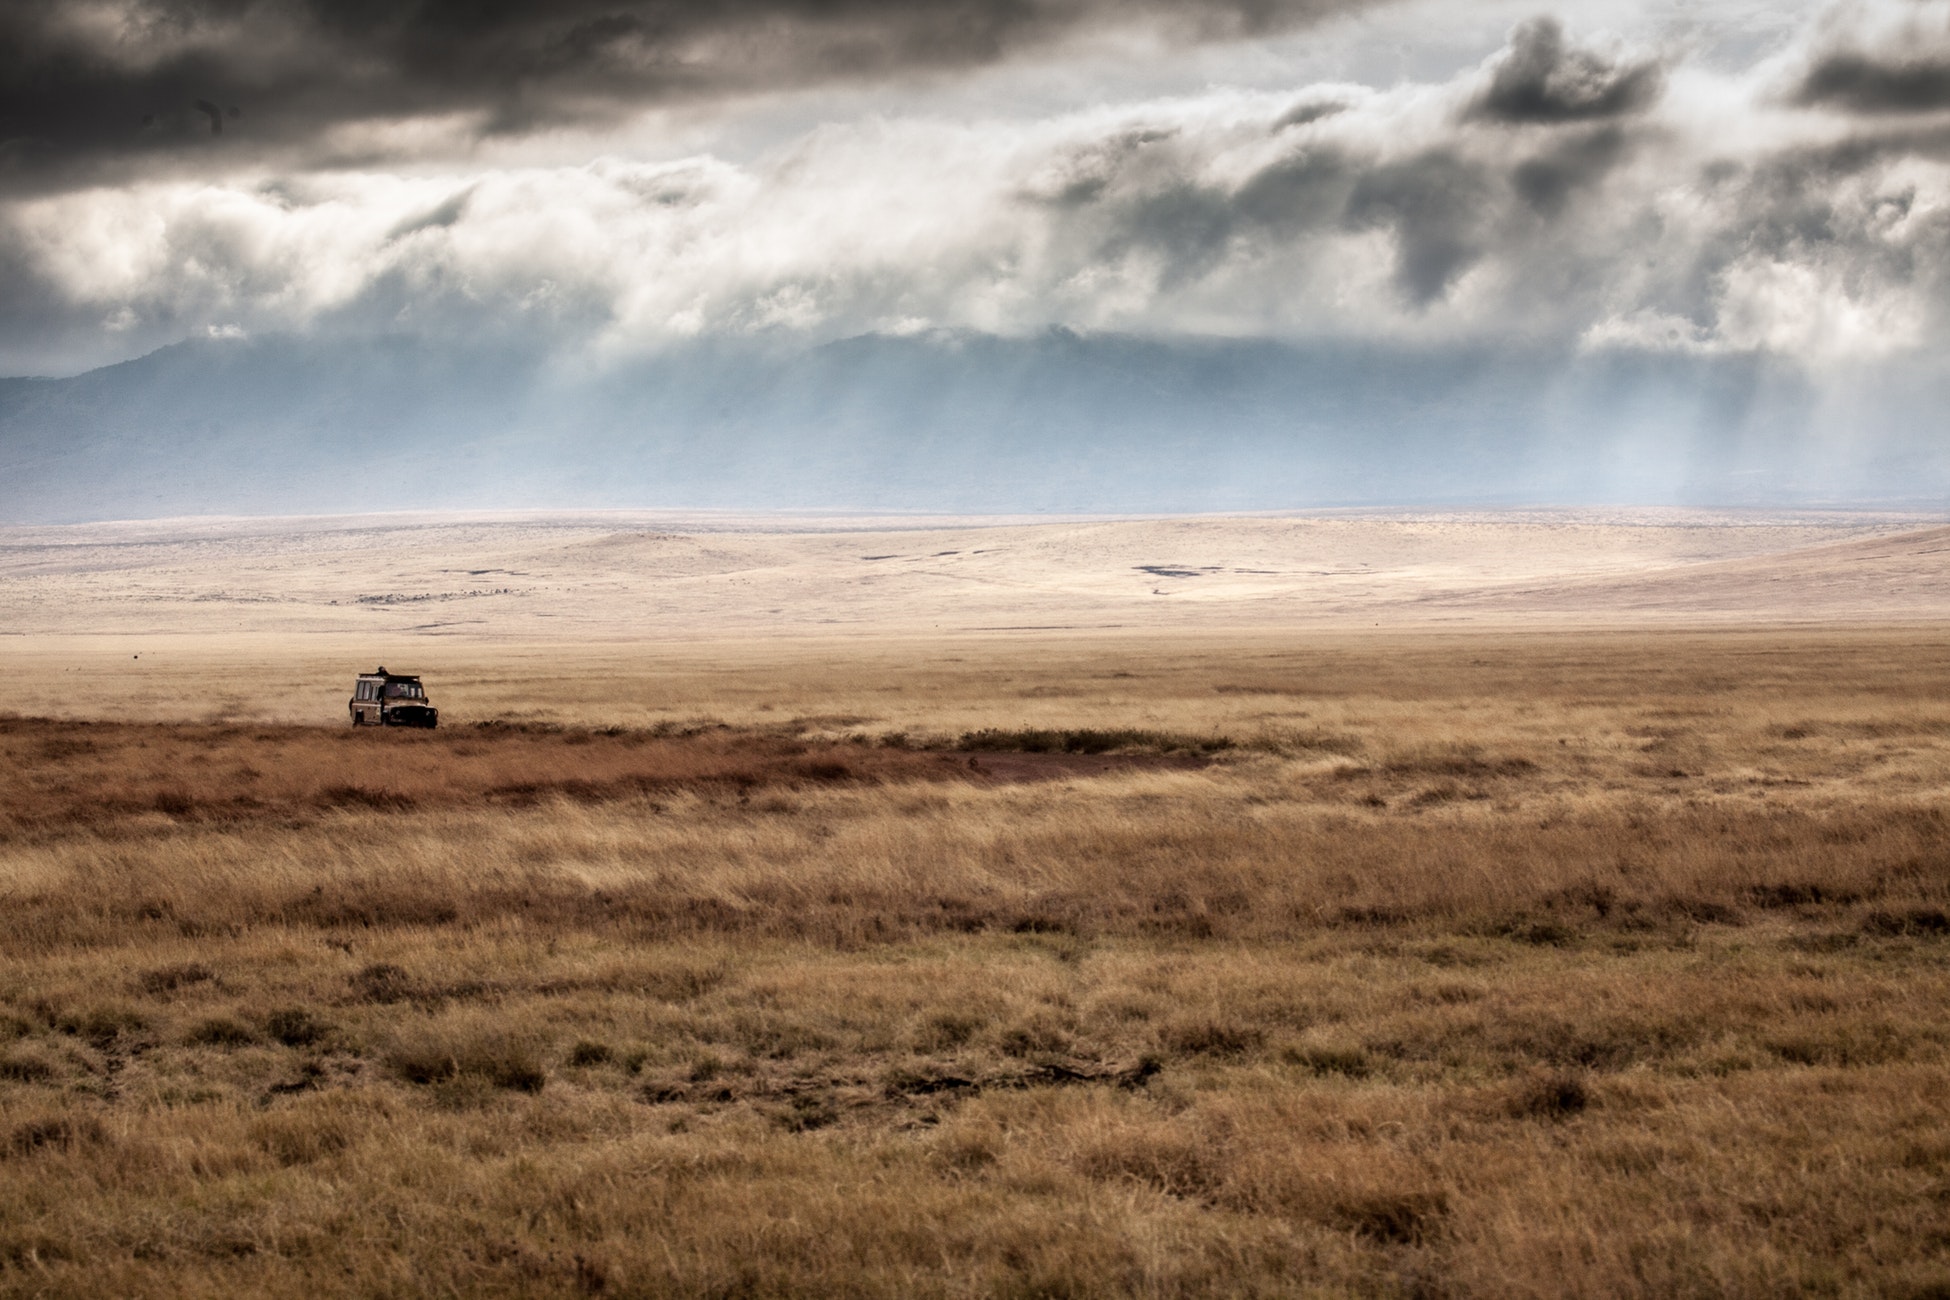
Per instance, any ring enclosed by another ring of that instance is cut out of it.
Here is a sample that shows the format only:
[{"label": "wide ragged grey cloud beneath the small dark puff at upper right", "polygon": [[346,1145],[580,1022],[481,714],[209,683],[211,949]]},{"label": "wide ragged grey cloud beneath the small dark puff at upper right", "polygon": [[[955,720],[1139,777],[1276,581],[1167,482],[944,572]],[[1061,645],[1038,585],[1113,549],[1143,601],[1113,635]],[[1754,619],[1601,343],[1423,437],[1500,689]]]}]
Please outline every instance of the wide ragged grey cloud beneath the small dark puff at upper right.
[{"label": "wide ragged grey cloud beneath the small dark puff at upper right", "polygon": [[[1515,33],[1519,57],[1531,35],[1531,27]],[[1154,267],[1164,292],[1223,279],[1250,261],[1277,265],[1295,249],[1383,234],[1392,296],[1425,312],[1484,261],[1517,269],[1505,279],[1519,285],[1533,267],[1542,279],[1556,275],[1546,265],[1552,257],[1605,261],[1601,246],[1580,249],[1585,201],[1638,154],[1646,134],[1628,121],[1568,121],[1533,136],[1464,113],[1461,123],[1424,123],[1418,131],[1433,138],[1404,148],[1398,127],[1369,117],[1375,105],[1308,99],[1306,107],[1314,103],[1324,111],[1273,117],[1273,136],[1291,146],[1244,173],[1211,166],[1227,152],[1211,136],[1123,127],[1071,146],[1026,197],[1055,212],[1059,242],[1080,263],[1137,257]],[[1326,127],[1283,134],[1316,123]]]}]

